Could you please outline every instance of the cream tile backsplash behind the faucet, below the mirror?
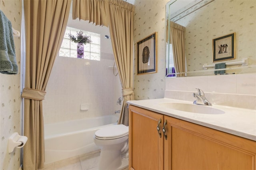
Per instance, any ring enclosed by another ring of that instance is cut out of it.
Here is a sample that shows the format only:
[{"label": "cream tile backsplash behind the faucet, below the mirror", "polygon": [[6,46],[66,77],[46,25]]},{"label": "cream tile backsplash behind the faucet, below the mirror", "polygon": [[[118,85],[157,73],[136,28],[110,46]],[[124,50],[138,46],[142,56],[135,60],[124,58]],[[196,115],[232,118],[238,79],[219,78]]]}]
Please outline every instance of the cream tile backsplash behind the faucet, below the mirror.
[{"label": "cream tile backsplash behind the faucet, below the mirror", "polygon": [[256,73],[166,78],[165,97],[193,102],[196,88],[212,104],[256,109]]}]

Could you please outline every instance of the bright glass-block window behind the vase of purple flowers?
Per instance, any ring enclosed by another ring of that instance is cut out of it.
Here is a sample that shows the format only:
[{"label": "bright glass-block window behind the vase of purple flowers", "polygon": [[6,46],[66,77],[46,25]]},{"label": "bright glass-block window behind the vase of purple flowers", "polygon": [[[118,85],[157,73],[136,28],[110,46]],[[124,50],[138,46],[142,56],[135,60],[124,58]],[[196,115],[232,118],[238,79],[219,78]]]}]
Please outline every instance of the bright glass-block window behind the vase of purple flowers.
[{"label": "bright glass-block window behind the vase of purple flowers", "polygon": [[[68,34],[76,35],[80,30],[67,27],[60,47],[59,56],[76,58],[76,43],[70,41]],[[84,31],[84,34],[90,36],[92,42],[84,45],[84,59],[100,61],[100,34]]]}]

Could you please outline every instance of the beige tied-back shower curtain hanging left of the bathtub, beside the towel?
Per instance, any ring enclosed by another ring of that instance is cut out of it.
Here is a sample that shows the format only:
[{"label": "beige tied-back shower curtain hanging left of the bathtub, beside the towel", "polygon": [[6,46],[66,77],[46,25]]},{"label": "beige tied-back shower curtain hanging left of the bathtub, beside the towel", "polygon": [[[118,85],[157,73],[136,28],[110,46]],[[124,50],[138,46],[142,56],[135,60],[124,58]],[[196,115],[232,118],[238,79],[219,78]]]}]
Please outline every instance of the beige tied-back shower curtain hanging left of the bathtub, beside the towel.
[{"label": "beige tied-back shower curtain hanging left of the bathtub, beside the towel", "polygon": [[44,167],[42,100],[60,45],[71,0],[24,0],[26,71],[24,98],[24,170]]}]

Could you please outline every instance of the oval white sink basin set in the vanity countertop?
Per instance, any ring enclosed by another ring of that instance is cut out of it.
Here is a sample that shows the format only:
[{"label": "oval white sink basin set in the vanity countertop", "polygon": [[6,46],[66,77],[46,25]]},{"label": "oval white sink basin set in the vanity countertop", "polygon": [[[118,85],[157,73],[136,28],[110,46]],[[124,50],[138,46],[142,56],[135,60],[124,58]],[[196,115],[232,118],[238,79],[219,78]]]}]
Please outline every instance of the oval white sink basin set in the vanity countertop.
[{"label": "oval white sink basin set in the vanity countertop", "polygon": [[192,113],[214,114],[214,115],[225,113],[220,109],[212,108],[212,106],[195,105],[195,104],[188,104],[188,103],[160,103],[160,105],[170,109],[184,111],[184,112],[192,112]]}]

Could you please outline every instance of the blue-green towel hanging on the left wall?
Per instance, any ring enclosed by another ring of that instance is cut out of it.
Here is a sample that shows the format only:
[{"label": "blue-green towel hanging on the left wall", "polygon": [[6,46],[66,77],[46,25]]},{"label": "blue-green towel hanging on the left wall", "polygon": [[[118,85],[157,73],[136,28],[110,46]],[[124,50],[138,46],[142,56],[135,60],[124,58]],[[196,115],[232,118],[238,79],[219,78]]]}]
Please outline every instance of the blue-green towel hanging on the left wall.
[{"label": "blue-green towel hanging on the left wall", "polygon": [[18,74],[12,23],[0,10],[0,73]]}]

